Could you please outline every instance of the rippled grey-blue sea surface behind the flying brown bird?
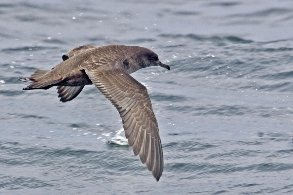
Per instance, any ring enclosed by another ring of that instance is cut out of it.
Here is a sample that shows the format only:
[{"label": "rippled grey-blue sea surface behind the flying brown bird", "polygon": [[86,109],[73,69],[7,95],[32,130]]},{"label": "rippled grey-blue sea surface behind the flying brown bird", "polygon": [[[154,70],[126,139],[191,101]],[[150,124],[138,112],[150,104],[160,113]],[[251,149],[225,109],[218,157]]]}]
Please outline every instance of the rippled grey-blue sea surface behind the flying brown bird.
[{"label": "rippled grey-blue sea surface behind the flying brown bird", "polygon": [[[293,1],[0,2],[0,194],[293,194]],[[150,48],[157,182],[93,86],[24,91],[83,44]]]}]

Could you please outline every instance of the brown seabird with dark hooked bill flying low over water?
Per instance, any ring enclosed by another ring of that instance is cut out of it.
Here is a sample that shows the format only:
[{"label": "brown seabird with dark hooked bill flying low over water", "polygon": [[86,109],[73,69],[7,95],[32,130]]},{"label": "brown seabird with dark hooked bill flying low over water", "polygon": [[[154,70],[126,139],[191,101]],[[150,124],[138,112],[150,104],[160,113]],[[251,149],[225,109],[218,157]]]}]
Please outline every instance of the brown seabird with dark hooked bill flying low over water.
[{"label": "brown seabird with dark hooked bill flying low over water", "polygon": [[159,61],[150,49],[126,45],[82,45],[62,59],[51,70],[36,69],[29,78],[18,78],[31,83],[23,90],[57,86],[60,101],[67,102],[85,85],[93,84],[116,107],[128,145],[159,181],[164,163],[157,119],[147,88],[130,74],[149,66],[168,70],[170,66]]}]

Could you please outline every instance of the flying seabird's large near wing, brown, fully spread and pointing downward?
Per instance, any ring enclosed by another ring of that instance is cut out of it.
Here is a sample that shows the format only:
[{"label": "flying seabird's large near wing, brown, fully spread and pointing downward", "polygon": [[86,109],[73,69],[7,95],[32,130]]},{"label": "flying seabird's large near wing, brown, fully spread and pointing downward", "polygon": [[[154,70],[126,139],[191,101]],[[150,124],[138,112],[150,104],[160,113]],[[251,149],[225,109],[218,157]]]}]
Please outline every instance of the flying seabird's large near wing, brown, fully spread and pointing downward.
[{"label": "flying seabird's large near wing, brown, fully spread and pointing downward", "polygon": [[122,69],[123,62],[83,68],[92,83],[117,108],[125,136],[135,155],[159,180],[163,172],[163,151],[159,129],[147,88]]}]

